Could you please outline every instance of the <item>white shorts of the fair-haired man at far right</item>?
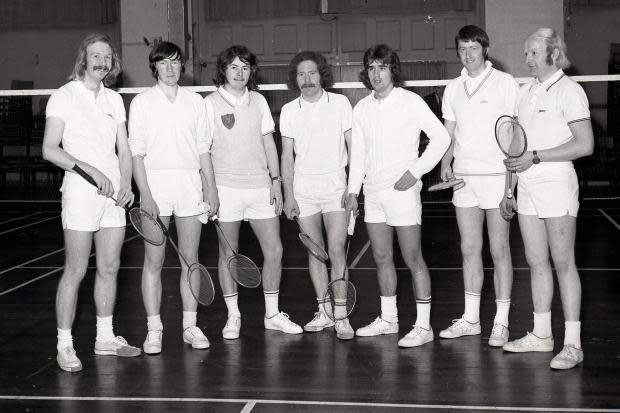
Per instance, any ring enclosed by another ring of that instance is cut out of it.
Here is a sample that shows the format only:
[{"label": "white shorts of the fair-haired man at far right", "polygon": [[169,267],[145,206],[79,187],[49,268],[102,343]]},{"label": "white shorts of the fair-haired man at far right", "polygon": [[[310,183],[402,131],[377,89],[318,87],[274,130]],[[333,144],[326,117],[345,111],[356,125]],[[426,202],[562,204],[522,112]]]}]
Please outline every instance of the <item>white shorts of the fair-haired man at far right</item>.
[{"label": "white shorts of the fair-haired man at far right", "polygon": [[519,176],[517,207],[523,215],[538,218],[577,216],[579,182],[574,169],[545,171],[535,177]]}]

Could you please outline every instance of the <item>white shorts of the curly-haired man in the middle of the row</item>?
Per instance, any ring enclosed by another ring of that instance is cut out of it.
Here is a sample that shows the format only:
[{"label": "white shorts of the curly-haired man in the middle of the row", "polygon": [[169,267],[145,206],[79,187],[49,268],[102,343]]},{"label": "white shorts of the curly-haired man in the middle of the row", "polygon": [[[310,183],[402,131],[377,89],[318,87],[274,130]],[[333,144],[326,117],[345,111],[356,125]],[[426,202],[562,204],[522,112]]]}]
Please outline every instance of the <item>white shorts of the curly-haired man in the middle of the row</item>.
[{"label": "white shorts of the curly-haired man in the middle of the row", "polygon": [[343,170],[323,175],[295,174],[293,193],[299,205],[299,216],[344,211],[342,194],[347,187],[347,174]]}]

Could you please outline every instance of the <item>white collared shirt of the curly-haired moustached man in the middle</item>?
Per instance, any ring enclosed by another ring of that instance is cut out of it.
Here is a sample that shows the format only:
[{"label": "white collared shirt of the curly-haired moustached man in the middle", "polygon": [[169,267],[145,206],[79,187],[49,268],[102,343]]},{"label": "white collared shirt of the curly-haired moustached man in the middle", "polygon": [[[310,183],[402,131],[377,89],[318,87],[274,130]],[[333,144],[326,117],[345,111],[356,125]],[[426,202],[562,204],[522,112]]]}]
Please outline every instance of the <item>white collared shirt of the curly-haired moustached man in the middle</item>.
[{"label": "white collared shirt of the curly-haired moustached man in the middle", "polygon": [[280,132],[295,143],[295,173],[323,175],[347,165],[344,133],[351,129],[351,103],[346,96],[323,90],[317,102],[302,96],[280,112]]}]

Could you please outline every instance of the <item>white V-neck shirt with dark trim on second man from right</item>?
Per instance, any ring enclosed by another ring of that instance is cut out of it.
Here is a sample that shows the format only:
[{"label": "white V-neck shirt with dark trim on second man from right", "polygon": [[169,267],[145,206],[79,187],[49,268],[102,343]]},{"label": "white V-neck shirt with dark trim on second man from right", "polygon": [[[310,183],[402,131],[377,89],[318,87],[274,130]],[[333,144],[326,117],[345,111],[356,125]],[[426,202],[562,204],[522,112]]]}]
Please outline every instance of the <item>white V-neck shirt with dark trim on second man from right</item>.
[{"label": "white V-neck shirt with dark trim on second man from right", "polygon": [[456,122],[453,170],[462,174],[503,173],[505,155],[495,141],[495,122],[516,113],[519,85],[509,74],[487,61],[475,78],[463,68],[446,86],[443,118]]}]

